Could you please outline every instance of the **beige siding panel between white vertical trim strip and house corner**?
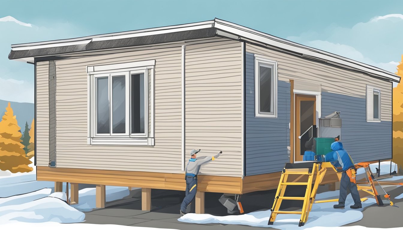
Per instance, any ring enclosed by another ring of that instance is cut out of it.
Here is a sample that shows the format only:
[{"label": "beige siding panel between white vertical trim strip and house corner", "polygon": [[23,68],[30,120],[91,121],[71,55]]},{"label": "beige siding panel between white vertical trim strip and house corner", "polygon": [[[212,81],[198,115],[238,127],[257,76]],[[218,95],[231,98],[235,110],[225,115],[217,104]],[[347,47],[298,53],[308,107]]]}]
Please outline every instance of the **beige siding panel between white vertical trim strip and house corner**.
[{"label": "beige siding panel between white vertical trim strip and house corner", "polygon": [[223,151],[200,174],[242,176],[241,64],[237,41],[186,46],[186,163],[191,149],[202,149],[198,157]]}]

